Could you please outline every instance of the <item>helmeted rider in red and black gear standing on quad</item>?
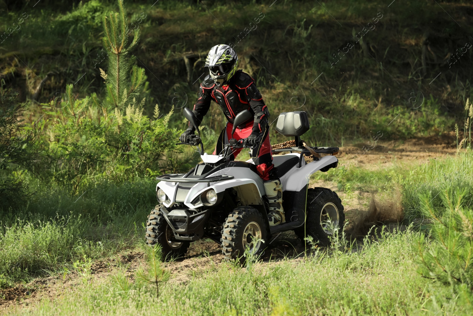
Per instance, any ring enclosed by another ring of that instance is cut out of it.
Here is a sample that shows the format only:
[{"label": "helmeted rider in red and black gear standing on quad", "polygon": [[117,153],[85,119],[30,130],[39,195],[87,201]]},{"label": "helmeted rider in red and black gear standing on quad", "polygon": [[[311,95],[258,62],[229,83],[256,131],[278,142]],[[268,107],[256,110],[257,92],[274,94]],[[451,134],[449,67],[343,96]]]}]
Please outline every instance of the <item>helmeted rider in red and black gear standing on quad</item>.
[{"label": "helmeted rider in red and black gear standing on quad", "polygon": [[[285,223],[282,208],[282,186],[272,163],[271,145],[269,140],[269,111],[264,104],[260,91],[254,84],[254,79],[242,70],[236,70],[238,56],[228,45],[216,45],[210,49],[205,66],[210,74],[201,83],[199,99],[194,105],[194,114],[198,124],[210,108],[210,100],[214,100],[222,108],[227,117],[227,126],[219,136],[214,154],[219,154],[229,144],[233,120],[239,112],[249,110],[254,114],[254,120],[237,126],[233,135],[232,145],[243,140],[244,147],[251,148],[251,157],[256,165],[259,176],[264,181],[264,189],[269,201],[268,220],[270,226]],[[189,125],[191,126],[191,125]],[[194,127],[189,127],[179,138],[188,143]],[[232,160],[240,153],[241,148],[234,149]]]}]

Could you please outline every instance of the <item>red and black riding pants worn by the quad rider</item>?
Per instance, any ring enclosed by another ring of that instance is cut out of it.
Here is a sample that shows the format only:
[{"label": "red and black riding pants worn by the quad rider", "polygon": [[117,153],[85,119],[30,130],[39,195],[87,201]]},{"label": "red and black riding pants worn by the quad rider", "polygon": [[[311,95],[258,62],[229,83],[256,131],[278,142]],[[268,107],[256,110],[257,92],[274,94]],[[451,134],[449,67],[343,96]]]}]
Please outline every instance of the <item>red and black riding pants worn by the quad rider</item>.
[{"label": "red and black riding pants worn by the quad rider", "polygon": [[[223,149],[225,149],[225,145],[228,144],[228,140],[232,138],[232,129],[233,124],[228,122],[227,126],[222,130],[219,136],[219,140],[217,141],[217,145],[215,147],[215,151],[213,154],[222,153]],[[253,121],[248,122],[245,128],[235,129],[235,133],[233,134],[233,138],[236,140],[244,139],[248,137],[253,129]],[[233,151],[233,156],[230,157],[231,160],[235,160],[236,156],[241,152],[243,148],[235,148]],[[269,180],[269,172],[272,170],[274,165],[272,164],[272,154],[271,154],[271,144],[269,141],[269,127],[266,127],[266,130],[263,134],[263,141],[261,144],[251,150],[251,158],[253,159],[254,164],[256,165],[256,169],[258,170],[259,176],[264,180]]]}]

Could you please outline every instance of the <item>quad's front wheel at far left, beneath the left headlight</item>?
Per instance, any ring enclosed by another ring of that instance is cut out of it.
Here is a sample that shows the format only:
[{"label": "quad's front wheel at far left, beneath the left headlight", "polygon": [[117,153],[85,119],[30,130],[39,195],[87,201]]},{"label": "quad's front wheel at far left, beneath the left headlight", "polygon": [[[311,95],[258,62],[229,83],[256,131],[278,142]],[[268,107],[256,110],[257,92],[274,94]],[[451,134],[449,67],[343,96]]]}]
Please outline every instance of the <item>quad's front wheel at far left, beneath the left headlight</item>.
[{"label": "quad's front wheel at far left, beneath the left headlight", "polygon": [[163,257],[166,259],[184,256],[184,254],[187,253],[190,242],[175,242],[173,239],[173,231],[163,215],[159,213],[157,206],[151,211],[148,221],[146,222],[146,243],[149,246],[159,244],[163,252]]}]

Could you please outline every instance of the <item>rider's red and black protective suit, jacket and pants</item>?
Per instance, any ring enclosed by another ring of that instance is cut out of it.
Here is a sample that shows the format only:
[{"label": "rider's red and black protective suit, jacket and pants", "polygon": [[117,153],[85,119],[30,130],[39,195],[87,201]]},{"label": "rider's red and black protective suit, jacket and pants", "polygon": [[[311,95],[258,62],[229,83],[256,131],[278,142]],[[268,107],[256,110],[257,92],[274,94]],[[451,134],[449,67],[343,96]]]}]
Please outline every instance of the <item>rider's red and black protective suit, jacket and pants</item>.
[{"label": "rider's red and black protective suit, jacket and pants", "polygon": [[[251,157],[260,177],[263,180],[269,180],[275,177],[273,170],[271,145],[269,141],[269,111],[264,104],[260,91],[256,88],[254,79],[242,70],[238,70],[232,78],[222,87],[218,87],[207,75],[201,83],[199,99],[194,105],[194,114],[199,120],[207,114],[210,108],[210,101],[214,100],[222,108],[227,117],[228,123],[222,130],[215,148],[215,154],[219,154],[228,144],[231,138],[233,120],[236,114],[243,110],[249,110],[254,114],[254,120],[249,121],[242,126],[237,126],[233,138],[236,140],[245,139],[250,135],[257,136],[259,145],[251,151]],[[232,160],[240,153],[241,149],[234,149],[235,153]]]}]

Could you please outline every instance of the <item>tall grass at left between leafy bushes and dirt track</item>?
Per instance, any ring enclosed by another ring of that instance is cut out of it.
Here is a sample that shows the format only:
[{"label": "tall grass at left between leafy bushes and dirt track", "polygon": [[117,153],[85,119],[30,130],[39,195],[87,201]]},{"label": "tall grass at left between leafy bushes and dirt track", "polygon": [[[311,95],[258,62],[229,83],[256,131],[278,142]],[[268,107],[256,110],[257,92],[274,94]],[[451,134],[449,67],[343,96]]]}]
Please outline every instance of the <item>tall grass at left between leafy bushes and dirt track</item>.
[{"label": "tall grass at left between leafy bushes and dirt track", "polygon": [[86,255],[106,257],[142,240],[155,205],[150,181],[97,184],[76,196],[44,184],[0,217],[0,287],[61,270]]}]

